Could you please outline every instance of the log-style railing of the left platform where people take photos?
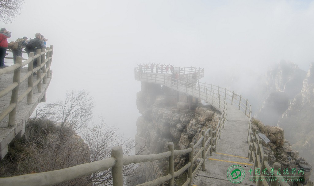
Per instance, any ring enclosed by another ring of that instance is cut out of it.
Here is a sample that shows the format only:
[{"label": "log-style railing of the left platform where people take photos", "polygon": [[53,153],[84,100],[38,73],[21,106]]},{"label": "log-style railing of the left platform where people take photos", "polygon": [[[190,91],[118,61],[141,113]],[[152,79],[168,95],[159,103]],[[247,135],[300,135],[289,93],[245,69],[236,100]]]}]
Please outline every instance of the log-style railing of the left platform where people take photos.
[{"label": "log-style railing of the left platform where people take photos", "polygon": [[[0,113],[0,122],[9,115],[8,126],[15,125],[17,105],[27,96],[27,104],[33,102],[33,88],[37,85],[38,92],[42,92],[41,81],[47,84],[47,78],[51,77],[50,64],[52,61],[53,46],[37,49],[36,55],[30,52],[29,58],[23,61],[22,57],[16,58],[16,63],[0,69],[0,75],[14,71],[13,83],[0,91],[0,98],[12,91],[10,105]],[[37,58],[37,67],[33,68],[33,60]],[[28,65],[28,72],[21,77],[21,67]],[[43,73],[41,73],[41,69]],[[33,82],[33,73],[37,71],[37,80]],[[19,96],[19,85],[28,80],[28,88]]]}]

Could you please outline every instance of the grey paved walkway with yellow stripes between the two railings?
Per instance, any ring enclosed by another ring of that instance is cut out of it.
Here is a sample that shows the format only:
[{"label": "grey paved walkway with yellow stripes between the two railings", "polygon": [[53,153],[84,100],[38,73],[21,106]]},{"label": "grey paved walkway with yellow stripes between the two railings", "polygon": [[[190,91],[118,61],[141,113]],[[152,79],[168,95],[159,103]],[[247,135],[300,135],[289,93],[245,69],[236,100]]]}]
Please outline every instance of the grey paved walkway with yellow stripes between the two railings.
[{"label": "grey paved walkway with yellow stripes between the two railings", "polygon": [[[252,162],[247,158],[249,148],[247,140],[248,118],[238,107],[228,104],[228,119],[218,142],[216,152],[205,161],[205,171],[199,171],[195,179],[196,186],[255,185],[249,181]],[[241,183],[231,183],[227,170],[232,165],[240,165],[245,171]],[[245,168],[247,165],[247,168]]]}]

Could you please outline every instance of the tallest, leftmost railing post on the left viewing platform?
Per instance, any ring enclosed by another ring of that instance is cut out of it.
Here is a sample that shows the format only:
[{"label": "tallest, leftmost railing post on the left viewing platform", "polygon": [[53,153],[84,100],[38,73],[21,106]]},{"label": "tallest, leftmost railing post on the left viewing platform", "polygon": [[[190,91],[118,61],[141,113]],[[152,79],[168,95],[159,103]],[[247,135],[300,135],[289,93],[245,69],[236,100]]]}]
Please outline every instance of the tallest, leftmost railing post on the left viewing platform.
[{"label": "tallest, leftmost railing post on the left viewing platform", "polygon": [[15,87],[12,90],[12,94],[11,94],[11,103],[15,103],[15,107],[14,109],[9,113],[9,127],[12,127],[15,125],[15,117],[16,117],[16,109],[18,107],[18,98],[19,98],[19,84],[20,84],[20,79],[21,79],[21,66],[22,66],[22,61],[23,58],[22,57],[16,57],[16,61],[15,64],[19,64],[19,68],[14,70],[14,74],[13,74],[13,83],[17,82],[18,86]]}]

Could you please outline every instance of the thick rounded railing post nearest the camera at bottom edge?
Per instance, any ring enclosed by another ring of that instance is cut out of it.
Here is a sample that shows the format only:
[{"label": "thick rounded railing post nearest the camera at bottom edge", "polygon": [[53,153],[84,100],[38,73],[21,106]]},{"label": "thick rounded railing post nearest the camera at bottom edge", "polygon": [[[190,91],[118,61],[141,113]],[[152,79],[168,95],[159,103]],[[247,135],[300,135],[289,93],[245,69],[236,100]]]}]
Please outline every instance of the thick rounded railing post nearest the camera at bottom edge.
[{"label": "thick rounded railing post nearest the camera at bottom edge", "polygon": [[111,149],[111,157],[116,159],[115,165],[112,167],[112,183],[113,186],[122,186],[122,167],[123,167],[123,154],[122,146],[116,146]]}]

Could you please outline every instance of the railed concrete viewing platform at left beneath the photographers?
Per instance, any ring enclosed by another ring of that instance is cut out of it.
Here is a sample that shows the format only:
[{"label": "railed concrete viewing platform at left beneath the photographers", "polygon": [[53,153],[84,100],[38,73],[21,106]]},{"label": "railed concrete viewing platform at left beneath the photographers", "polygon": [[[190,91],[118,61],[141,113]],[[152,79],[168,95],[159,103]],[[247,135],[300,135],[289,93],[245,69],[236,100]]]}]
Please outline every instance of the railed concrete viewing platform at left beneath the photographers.
[{"label": "railed concrete viewing platform at left beneath the photographers", "polygon": [[[17,57],[15,64],[0,69],[1,160],[8,153],[8,144],[24,134],[27,120],[38,103],[46,101],[46,90],[52,79],[52,51],[52,45],[38,49],[35,56],[31,52],[26,60]],[[33,58],[37,58],[37,68],[33,68]]]}]

